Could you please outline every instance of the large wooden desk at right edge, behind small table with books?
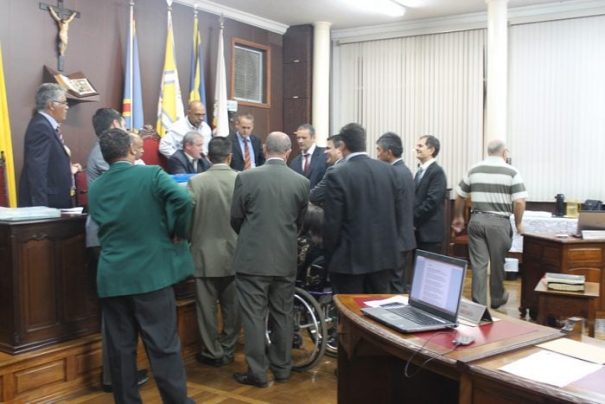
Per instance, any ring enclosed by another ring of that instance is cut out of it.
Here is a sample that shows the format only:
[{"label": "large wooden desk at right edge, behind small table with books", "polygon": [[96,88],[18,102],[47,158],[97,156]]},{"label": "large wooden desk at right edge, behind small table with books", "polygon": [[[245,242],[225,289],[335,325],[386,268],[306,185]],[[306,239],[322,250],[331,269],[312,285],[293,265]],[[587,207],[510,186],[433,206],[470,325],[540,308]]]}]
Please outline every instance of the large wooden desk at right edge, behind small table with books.
[{"label": "large wooden desk at right edge, behind small table with books", "polygon": [[529,309],[536,319],[538,297],[534,288],[546,272],[584,275],[587,282],[598,282],[597,310],[605,310],[605,240],[525,234],[519,307],[522,315]]}]

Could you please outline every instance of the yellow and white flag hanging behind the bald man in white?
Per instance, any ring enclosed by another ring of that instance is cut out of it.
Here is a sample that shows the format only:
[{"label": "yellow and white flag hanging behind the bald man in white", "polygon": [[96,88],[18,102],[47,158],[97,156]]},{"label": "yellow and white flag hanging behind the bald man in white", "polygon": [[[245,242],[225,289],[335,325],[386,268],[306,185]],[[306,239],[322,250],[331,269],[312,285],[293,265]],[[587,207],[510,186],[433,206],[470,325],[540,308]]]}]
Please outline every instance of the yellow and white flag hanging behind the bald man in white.
[{"label": "yellow and white flag hanging behind the bald man in white", "polygon": [[156,124],[156,130],[160,136],[164,136],[170,126],[184,116],[179,74],[174,57],[174,34],[172,33],[172,13],[170,11],[172,0],[166,1],[168,3],[168,33],[166,35],[164,73],[162,74],[160,99],[158,100],[158,121]]}]

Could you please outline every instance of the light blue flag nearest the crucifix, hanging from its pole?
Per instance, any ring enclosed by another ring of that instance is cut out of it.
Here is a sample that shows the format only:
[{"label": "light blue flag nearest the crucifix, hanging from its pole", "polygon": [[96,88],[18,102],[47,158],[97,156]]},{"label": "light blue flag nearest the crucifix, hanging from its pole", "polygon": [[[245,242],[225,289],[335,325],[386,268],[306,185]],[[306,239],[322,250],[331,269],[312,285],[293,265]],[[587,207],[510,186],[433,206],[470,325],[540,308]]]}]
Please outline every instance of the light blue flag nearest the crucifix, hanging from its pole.
[{"label": "light blue flag nearest the crucifix, hanging from its pole", "polygon": [[124,77],[124,98],[122,117],[127,129],[141,129],[143,118],[143,96],[141,95],[141,69],[139,67],[139,45],[133,16],[134,4],[130,5],[130,27],[126,45],[126,76]]}]

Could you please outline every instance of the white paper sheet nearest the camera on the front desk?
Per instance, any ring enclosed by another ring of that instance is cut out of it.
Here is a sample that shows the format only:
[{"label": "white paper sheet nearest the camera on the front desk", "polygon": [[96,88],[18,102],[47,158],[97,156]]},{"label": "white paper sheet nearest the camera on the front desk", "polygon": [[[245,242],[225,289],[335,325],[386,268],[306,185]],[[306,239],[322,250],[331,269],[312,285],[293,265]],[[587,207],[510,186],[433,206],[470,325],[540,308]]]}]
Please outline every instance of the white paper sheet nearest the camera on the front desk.
[{"label": "white paper sheet nearest the camera on the front desk", "polygon": [[502,366],[500,370],[525,379],[563,387],[601,368],[601,365],[556,352],[540,351]]}]

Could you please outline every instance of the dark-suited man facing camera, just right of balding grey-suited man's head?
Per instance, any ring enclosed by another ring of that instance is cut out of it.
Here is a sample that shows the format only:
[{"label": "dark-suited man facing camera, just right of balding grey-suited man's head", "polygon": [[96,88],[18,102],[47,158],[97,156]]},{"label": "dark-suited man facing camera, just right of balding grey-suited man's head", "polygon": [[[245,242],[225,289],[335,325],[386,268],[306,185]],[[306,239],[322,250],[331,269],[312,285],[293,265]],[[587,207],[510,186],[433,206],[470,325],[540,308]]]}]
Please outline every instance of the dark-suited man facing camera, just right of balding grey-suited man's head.
[{"label": "dark-suited man facing camera, just right of balding grey-suited man's head", "polygon": [[290,162],[290,168],[307,177],[313,189],[326,173],[325,148],[315,144],[315,128],[308,123],[296,130],[296,142],[300,154]]}]

